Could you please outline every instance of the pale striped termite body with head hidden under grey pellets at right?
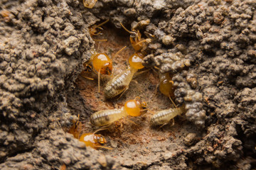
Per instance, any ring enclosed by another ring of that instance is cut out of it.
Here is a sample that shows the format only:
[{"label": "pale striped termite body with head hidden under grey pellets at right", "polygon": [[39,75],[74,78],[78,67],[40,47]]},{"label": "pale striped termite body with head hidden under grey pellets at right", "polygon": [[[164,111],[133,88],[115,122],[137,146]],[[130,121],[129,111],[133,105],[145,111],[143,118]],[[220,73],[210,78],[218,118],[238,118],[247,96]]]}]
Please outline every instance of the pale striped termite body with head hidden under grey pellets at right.
[{"label": "pale striped termite body with head hidden under grey pellets at right", "polygon": [[150,119],[151,125],[161,125],[164,126],[170,122],[170,120],[174,119],[176,115],[181,115],[185,113],[185,106],[181,106],[180,108],[169,108],[163,111],[159,111],[154,114]]}]

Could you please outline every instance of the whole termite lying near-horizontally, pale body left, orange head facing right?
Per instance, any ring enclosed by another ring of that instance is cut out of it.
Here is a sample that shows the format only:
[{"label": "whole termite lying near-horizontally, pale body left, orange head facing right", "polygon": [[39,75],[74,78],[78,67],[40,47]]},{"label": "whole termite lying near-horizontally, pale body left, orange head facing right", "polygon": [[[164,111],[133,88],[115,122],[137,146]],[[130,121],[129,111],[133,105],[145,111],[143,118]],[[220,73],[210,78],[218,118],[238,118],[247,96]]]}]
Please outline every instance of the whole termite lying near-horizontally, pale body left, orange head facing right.
[{"label": "whole termite lying near-horizontally, pale body left, orange head facing right", "polygon": [[140,101],[140,98],[134,98],[124,104],[120,109],[97,111],[90,116],[90,122],[95,126],[105,126],[114,123],[115,121],[131,116],[142,115],[146,111],[146,103]]}]

